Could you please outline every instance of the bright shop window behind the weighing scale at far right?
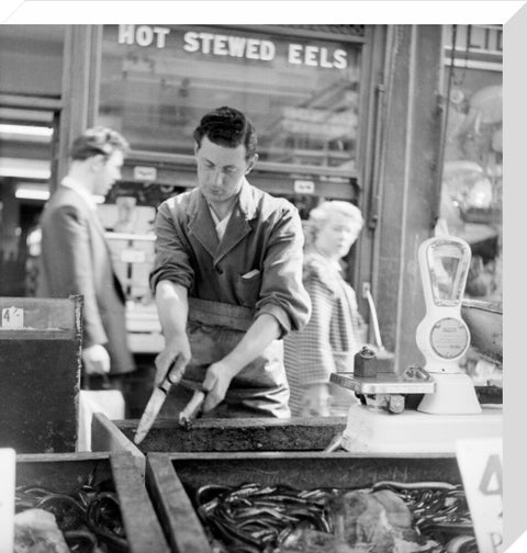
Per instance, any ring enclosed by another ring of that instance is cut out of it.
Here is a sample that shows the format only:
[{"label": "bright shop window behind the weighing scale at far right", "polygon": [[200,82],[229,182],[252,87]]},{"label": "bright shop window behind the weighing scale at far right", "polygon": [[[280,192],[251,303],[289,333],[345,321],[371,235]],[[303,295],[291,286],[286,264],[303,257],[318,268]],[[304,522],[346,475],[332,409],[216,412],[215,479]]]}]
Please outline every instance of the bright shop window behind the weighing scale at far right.
[{"label": "bright shop window behind the weighing scale at far right", "polygon": [[466,296],[496,302],[502,301],[501,36],[500,25],[447,26],[440,211],[446,229],[472,250]]}]

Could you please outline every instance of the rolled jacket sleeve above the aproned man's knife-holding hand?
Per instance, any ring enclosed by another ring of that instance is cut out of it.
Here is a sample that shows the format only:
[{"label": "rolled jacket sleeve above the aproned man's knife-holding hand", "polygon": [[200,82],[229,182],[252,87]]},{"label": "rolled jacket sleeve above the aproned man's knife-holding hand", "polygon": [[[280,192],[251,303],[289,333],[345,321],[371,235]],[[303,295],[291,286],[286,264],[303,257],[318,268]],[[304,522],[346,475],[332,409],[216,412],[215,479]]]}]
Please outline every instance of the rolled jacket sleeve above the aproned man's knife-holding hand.
[{"label": "rolled jacket sleeve above the aproned man's knife-holding hand", "polygon": [[155,294],[161,280],[169,280],[190,289],[194,271],[189,260],[189,247],[178,217],[176,199],[164,202],[156,216],[156,256],[150,272],[150,290]]}]

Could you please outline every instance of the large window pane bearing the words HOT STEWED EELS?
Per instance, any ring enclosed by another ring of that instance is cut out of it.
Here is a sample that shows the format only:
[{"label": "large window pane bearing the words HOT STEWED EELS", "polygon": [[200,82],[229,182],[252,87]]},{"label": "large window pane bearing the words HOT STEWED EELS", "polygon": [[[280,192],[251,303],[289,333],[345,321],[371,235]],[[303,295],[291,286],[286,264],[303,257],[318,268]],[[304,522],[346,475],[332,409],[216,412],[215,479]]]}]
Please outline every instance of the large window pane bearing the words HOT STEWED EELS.
[{"label": "large window pane bearing the words HOT STEWED EELS", "polygon": [[246,112],[262,161],[354,170],[360,47],[194,25],[105,25],[99,122],[134,149],[192,155],[221,105]]}]

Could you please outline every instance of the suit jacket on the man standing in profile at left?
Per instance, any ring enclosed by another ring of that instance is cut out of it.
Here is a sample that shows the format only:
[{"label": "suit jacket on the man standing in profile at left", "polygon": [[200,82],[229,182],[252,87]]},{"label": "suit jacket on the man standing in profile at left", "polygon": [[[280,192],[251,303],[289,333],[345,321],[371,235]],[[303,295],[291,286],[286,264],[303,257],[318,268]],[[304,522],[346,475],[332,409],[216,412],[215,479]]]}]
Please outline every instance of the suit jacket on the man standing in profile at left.
[{"label": "suit jacket on the man standing in profile at left", "polygon": [[97,212],[72,189],[60,185],[41,218],[42,253],[37,295],[83,296],[83,343],[103,345],[111,374],[134,368],[126,346],[124,293],[113,271]]}]

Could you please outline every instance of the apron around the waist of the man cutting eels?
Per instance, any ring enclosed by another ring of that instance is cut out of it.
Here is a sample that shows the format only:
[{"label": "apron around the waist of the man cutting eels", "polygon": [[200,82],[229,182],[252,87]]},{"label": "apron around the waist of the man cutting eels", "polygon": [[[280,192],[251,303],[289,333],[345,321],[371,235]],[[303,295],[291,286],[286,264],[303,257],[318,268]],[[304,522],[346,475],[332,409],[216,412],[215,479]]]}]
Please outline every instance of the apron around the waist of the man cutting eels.
[{"label": "apron around the waist of the man cutting eels", "polygon": [[[248,307],[189,297],[187,335],[192,358],[180,385],[172,386],[170,396],[179,395],[187,402],[190,391],[201,387],[209,365],[233,351],[254,320],[254,311]],[[187,393],[183,387],[189,388]],[[184,402],[173,407],[180,409]],[[274,340],[242,369],[231,381],[225,399],[204,416],[288,418],[291,415],[288,402],[283,342]]]}]

